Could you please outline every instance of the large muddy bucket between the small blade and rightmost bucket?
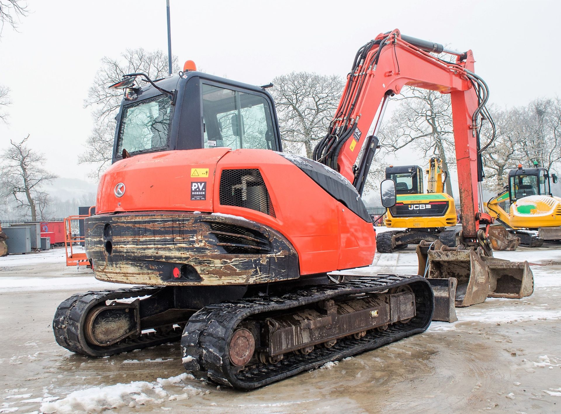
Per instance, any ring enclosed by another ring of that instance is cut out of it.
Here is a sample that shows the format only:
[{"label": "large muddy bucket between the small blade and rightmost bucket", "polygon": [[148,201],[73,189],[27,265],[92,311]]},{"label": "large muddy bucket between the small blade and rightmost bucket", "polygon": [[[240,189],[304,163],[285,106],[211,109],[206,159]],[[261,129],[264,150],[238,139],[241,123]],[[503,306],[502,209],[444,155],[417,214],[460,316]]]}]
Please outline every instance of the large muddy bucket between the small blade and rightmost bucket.
[{"label": "large muddy bucket between the small blade and rightmost bucket", "polygon": [[434,250],[430,247],[422,241],[417,245],[419,275],[429,279],[456,278],[454,299],[458,308],[484,302],[489,294],[489,272],[480,255],[445,246],[438,240],[433,243]]}]

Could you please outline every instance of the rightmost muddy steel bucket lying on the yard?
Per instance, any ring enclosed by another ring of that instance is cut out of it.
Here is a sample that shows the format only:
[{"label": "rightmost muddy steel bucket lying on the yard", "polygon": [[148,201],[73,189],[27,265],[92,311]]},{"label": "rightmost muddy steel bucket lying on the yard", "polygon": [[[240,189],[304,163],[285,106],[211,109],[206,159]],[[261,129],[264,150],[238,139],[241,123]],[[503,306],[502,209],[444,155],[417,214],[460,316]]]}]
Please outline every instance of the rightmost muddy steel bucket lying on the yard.
[{"label": "rightmost muddy steel bucket lying on the yard", "polygon": [[489,271],[489,297],[521,299],[534,292],[534,273],[528,262],[482,258]]}]

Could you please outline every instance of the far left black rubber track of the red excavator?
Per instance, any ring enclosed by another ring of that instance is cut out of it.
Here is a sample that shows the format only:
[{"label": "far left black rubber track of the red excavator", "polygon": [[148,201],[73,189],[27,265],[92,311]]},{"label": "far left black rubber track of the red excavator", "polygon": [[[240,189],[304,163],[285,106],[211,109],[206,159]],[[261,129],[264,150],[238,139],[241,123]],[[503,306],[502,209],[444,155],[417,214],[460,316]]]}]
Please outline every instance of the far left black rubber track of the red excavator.
[{"label": "far left black rubber track of the red excavator", "polygon": [[106,300],[128,299],[154,295],[162,287],[133,287],[129,289],[85,292],[70,296],[57,308],[53,319],[54,338],[58,345],[68,351],[89,356],[108,356],[119,352],[127,352],[165,342],[177,341],[181,337],[181,329],[174,328],[171,332],[149,332],[137,338],[125,338],[111,346],[96,346],[88,343],[84,336],[83,324],[88,311],[95,305]]}]

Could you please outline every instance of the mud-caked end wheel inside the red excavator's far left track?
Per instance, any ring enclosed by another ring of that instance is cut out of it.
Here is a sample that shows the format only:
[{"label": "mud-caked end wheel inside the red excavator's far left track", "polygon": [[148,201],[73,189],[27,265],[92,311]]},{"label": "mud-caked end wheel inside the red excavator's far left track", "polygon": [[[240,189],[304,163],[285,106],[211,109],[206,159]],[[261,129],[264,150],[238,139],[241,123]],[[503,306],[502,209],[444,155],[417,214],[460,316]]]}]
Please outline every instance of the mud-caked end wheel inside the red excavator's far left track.
[{"label": "mud-caked end wheel inside the red excavator's far left track", "polygon": [[138,302],[95,306],[84,323],[86,340],[93,345],[109,346],[140,334]]}]

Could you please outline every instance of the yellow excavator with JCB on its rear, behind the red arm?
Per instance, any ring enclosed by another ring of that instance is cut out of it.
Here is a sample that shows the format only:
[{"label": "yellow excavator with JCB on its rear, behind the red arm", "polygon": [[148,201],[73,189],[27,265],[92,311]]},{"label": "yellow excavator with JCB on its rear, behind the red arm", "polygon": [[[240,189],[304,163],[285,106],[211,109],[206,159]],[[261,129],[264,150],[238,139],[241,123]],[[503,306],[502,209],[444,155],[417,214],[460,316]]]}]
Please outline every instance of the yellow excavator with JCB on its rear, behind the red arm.
[{"label": "yellow excavator with JCB on its rear, behind the red arm", "polygon": [[[418,165],[390,165],[385,170],[385,178],[396,183],[396,205],[389,208],[384,225],[391,230],[376,236],[379,253],[392,253],[409,244],[419,244],[421,240],[439,240],[447,227],[456,226],[457,215],[454,199],[445,193],[448,174],[442,169],[438,158],[429,160],[427,191],[423,190],[422,169]],[[456,231],[451,232],[455,239]],[[444,244],[448,243],[443,241]]]}]

